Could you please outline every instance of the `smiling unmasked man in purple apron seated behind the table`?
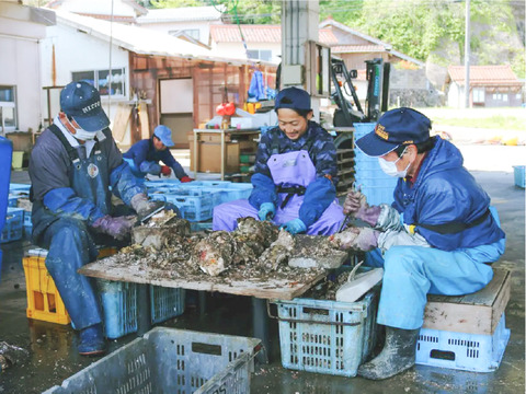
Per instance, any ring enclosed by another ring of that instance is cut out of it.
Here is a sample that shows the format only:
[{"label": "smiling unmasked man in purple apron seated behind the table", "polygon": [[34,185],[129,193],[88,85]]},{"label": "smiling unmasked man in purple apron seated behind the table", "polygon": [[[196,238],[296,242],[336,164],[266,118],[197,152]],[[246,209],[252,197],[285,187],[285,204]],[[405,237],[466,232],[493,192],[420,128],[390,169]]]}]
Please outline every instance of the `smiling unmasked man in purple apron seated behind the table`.
[{"label": "smiling unmasked man in purple apron seated behind the table", "polygon": [[333,139],[311,120],[310,96],[301,89],[282,90],[275,111],[278,127],[261,137],[252,194],[217,206],[213,229],[232,231],[238,218],[253,217],[273,220],[291,234],[332,234],[344,218]]}]

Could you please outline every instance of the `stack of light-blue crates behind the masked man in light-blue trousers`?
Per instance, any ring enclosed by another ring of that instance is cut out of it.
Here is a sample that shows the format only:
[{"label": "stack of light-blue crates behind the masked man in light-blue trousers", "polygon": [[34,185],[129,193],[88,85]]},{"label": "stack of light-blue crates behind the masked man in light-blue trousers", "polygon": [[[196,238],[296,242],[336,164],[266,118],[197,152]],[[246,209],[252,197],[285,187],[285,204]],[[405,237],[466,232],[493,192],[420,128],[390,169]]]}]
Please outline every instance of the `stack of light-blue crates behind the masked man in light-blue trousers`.
[{"label": "stack of light-blue crates behind the masked man in light-blue trousers", "polygon": [[[375,129],[374,123],[354,124],[355,141]],[[359,148],[354,150],[355,184],[367,197],[369,205],[391,204],[397,177],[389,176],[380,169],[377,158],[367,157]]]}]

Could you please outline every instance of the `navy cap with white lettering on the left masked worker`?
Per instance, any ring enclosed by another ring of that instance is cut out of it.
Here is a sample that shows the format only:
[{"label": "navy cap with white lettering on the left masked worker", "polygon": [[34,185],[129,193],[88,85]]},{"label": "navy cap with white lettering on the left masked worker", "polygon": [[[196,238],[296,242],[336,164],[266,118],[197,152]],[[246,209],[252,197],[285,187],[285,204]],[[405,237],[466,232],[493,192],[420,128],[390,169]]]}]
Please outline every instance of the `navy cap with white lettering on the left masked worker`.
[{"label": "navy cap with white lettering on the left masked worker", "polygon": [[99,91],[84,81],[70,82],[60,92],[60,108],[87,131],[99,131],[110,126],[101,105]]}]

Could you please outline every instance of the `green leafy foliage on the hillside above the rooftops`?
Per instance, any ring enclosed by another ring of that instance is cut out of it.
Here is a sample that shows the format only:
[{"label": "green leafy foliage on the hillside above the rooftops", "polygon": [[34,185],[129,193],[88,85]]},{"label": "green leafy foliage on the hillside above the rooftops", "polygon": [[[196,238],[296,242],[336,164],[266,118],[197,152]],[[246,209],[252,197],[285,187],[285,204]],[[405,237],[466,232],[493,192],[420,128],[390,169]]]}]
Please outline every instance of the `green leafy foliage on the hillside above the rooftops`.
[{"label": "green leafy foliage on the hillside above the rooftops", "polygon": [[[525,77],[524,43],[517,36],[513,0],[471,0],[472,65],[510,62]],[[225,21],[278,24],[278,0],[150,0],[155,8],[222,5]],[[464,62],[466,3],[459,0],[319,0],[320,20],[333,18],[415,59],[446,66]]]}]

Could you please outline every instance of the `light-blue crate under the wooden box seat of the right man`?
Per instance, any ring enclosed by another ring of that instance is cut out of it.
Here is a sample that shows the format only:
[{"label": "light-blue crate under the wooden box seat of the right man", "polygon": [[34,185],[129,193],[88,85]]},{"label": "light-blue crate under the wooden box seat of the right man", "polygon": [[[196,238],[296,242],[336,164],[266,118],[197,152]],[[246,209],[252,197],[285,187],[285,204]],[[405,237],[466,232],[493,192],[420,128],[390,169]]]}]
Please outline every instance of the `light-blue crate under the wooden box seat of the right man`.
[{"label": "light-blue crate under the wooden box seat of the right man", "polygon": [[464,371],[491,372],[499,368],[507,341],[504,313],[493,335],[421,328],[415,362]]}]

